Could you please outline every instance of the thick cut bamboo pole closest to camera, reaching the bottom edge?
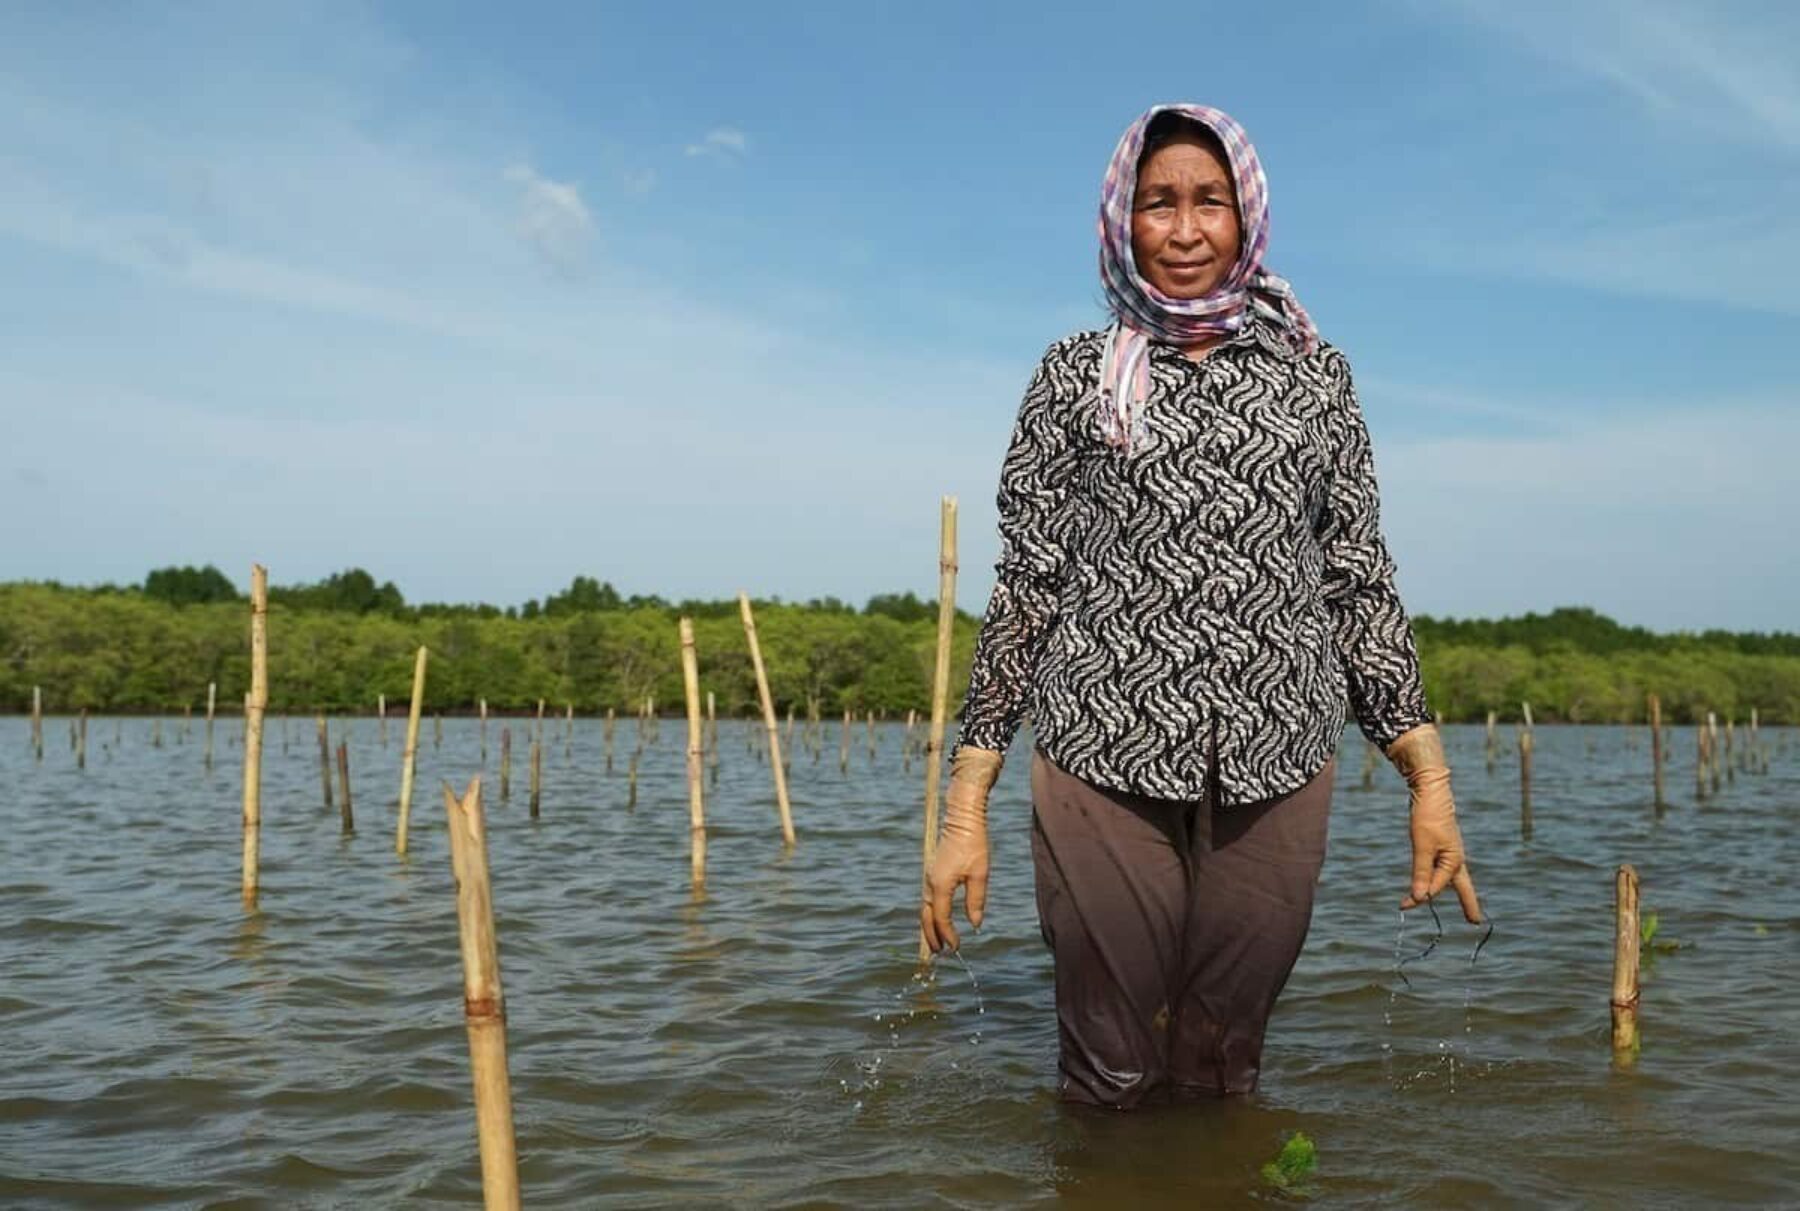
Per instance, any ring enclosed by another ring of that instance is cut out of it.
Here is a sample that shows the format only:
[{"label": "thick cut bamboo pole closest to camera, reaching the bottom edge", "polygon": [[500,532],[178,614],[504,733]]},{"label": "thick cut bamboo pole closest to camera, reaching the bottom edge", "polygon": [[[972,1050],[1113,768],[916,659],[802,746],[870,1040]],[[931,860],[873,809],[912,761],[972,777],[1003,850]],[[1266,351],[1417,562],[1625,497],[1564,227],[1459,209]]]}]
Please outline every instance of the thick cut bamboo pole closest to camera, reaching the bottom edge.
[{"label": "thick cut bamboo pole closest to camera, reaching the bottom edge", "polygon": [[445,785],[450,817],[450,873],[455,876],[457,936],[463,948],[463,1020],[475,1087],[475,1135],[481,1141],[481,1189],[490,1211],[517,1209],[518,1153],[513,1137],[513,1087],[506,1074],[506,995],[500,946],[493,936],[488,878],[488,826],[481,779],[459,801]]}]

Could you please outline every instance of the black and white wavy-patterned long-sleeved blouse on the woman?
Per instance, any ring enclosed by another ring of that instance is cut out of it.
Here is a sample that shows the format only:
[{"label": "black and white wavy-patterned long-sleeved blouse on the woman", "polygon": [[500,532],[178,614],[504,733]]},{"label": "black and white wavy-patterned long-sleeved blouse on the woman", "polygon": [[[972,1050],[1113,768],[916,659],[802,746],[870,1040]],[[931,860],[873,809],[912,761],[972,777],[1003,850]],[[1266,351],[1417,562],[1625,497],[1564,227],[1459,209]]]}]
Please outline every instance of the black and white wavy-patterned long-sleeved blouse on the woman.
[{"label": "black and white wavy-patterned long-sleeved blouse on the woman", "polygon": [[958,747],[1004,752],[1030,709],[1071,774],[1197,799],[1217,729],[1237,804],[1325,767],[1346,689],[1377,745],[1427,723],[1343,353],[1262,324],[1201,362],[1154,345],[1127,453],[1100,435],[1103,345],[1051,345],[1019,407]]}]

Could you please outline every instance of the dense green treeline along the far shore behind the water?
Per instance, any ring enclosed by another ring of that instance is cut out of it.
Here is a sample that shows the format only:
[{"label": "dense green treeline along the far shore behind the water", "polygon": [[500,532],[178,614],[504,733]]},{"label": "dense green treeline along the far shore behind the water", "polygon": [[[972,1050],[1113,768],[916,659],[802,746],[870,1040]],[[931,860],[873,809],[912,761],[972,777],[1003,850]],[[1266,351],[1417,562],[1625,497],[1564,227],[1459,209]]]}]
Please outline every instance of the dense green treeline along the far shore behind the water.
[{"label": "dense green treeline along the far shore behind the water", "polygon": [[[270,590],[270,707],[367,709],[405,702],[412,651],[432,650],[427,709],[535,707],[630,713],[653,696],[680,709],[679,615],[695,619],[704,689],[725,714],[752,711],[756,682],[734,599],[621,597],[576,578],[522,608],[409,606],[360,570]],[[913,594],[756,603],[758,633],[779,711],[817,702],[851,711],[929,709],[936,605]],[[979,619],[959,612],[952,695],[968,682]],[[1706,711],[1800,722],[1800,637],[1706,632],[1660,635],[1593,610],[1523,619],[1415,619],[1426,691],[1451,722],[1487,711],[1544,722],[1642,722],[1658,693],[1670,722]],[[214,569],[162,569],[142,588],[0,585],[0,711],[25,709],[41,686],[52,711],[178,711],[218,682],[221,709],[248,686],[248,610]],[[952,704],[954,709],[954,704]]]}]

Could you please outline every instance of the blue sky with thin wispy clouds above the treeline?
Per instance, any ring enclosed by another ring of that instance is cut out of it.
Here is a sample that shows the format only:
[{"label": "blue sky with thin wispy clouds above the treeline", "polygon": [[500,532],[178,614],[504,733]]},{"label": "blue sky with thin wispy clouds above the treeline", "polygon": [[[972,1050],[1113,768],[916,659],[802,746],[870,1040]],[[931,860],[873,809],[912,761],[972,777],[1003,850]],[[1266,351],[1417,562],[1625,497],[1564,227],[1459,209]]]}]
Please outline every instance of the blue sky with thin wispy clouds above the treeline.
[{"label": "blue sky with thin wispy clouds above the treeline", "polygon": [[1800,5],[9,5],[0,579],[992,588],[1120,130],[1251,131],[1415,614],[1800,626]]}]

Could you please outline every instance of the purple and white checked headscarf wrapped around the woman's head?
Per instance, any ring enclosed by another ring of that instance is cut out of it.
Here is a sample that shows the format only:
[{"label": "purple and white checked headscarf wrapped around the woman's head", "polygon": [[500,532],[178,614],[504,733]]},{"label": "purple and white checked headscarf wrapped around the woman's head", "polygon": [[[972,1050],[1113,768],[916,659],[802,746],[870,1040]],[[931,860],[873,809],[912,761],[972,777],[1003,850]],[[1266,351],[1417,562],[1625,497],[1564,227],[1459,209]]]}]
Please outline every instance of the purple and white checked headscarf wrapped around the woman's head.
[{"label": "purple and white checked headscarf wrapped around the woman's head", "polygon": [[[1219,137],[1237,187],[1242,227],[1238,259],[1224,281],[1201,299],[1170,299],[1147,283],[1130,248],[1143,137],[1150,119],[1168,112]],[[1143,405],[1150,398],[1150,342],[1190,345],[1206,336],[1231,336],[1253,315],[1264,315],[1274,320],[1294,353],[1319,347],[1319,333],[1294,297],[1294,288],[1262,266],[1267,248],[1269,182],[1249,135],[1229,113],[1204,104],[1157,104],[1125,130],[1100,193],[1100,283],[1114,318],[1100,369],[1100,423],[1107,443],[1129,450],[1141,432]]]}]

